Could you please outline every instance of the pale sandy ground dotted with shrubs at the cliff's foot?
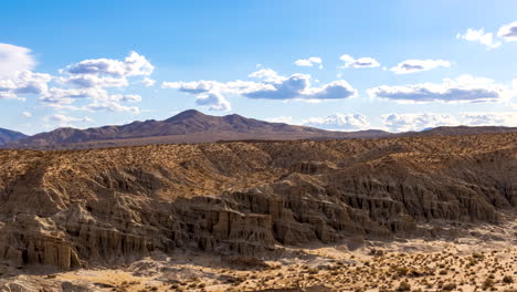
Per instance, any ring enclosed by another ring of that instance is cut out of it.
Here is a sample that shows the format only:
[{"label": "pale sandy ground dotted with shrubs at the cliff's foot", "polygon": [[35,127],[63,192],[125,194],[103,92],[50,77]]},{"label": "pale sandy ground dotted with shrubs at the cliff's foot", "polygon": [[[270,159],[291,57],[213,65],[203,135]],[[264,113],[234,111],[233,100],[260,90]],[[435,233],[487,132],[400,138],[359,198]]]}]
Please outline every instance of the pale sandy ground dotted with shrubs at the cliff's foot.
[{"label": "pale sandy ground dotted with shrubs at the cliff's foot", "polygon": [[177,251],[109,268],[0,265],[0,292],[503,291],[517,292],[517,220],[476,237],[281,248],[276,258]]}]

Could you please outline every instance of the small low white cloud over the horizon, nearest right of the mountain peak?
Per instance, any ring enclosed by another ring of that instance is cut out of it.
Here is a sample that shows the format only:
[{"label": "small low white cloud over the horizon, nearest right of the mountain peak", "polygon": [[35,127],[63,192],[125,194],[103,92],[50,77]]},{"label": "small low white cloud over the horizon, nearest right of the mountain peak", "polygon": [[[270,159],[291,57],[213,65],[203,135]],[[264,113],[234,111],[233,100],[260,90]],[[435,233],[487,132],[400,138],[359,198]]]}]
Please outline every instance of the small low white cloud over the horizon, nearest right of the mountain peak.
[{"label": "small low white cloud over the horizon, nearest right of the mountain peak", "polygon": [[370,126],[368,118],[361,114],[331,114],[324,117],[310,117],[304,126],[330,131],[357,131]]}]

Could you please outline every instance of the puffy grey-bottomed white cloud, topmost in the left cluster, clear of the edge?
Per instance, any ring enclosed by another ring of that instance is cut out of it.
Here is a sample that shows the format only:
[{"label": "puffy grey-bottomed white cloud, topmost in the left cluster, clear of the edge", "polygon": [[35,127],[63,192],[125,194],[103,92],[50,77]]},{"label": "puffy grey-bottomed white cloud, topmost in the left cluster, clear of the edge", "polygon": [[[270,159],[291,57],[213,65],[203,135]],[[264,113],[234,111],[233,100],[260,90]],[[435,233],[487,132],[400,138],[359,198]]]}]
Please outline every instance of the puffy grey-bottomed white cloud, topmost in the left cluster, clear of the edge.
[{"label": "puffy grey-bottomed white cloud, topmost in the left cluster, clear of the edge", "polygon": [[155,66],[137,52],[129,52],[124,61],[114,59],[94,59],[85,60],[66,67],[66,72],[73,75],[110,75],[122,76],[148,76],[152,73]]}]

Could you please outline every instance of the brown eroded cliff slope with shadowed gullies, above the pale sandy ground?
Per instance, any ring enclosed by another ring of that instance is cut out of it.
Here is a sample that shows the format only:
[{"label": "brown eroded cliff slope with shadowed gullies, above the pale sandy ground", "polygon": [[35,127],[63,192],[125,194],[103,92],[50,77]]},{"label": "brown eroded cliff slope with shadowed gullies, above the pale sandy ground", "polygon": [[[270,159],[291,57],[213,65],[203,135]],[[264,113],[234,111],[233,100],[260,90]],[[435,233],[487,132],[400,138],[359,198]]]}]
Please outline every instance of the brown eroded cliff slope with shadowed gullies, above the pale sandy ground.
[{"label": "brown eroded cliff slope with shadowed gullies, above the pale sandy ground", "polygon": [[515,133],[0,150],[0,261],[12,267],[455,238],[516,207]]}]

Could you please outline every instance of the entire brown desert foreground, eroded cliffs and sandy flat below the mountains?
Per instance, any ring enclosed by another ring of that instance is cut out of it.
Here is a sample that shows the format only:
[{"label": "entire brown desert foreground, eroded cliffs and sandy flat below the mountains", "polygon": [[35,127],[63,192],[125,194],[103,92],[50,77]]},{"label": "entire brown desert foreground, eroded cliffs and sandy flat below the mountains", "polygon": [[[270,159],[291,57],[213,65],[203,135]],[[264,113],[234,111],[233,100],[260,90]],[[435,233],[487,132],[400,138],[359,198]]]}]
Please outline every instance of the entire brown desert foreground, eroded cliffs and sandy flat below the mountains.
[{"label": "entire brown desert foreground, eroded cliffs and sandy flat below the mountains", "polygon": [[517,289],[517,133],[0,150],[0,291]]}]

